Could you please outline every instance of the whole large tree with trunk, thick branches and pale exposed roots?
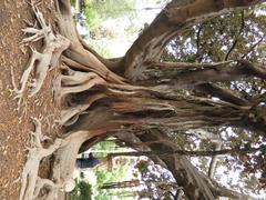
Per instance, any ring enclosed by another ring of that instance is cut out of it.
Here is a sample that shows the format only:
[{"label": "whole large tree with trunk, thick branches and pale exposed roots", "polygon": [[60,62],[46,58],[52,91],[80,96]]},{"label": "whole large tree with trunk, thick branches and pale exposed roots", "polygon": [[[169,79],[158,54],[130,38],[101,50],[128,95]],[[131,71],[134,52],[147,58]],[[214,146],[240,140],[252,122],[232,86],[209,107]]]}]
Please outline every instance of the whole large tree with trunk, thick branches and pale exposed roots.
[{"label": "whole large tree with trunk, thick branches and pale exposed roots", "polygon": [[[59,123],[64,134],[51,141],[33,119],[29,157],[21,178],[21,200],[38,198],[48,188],[44,199],[54,199],[69,191],[76,154],[106,137],[114,136],[136,150],[136,142],[152,151],[182,149],[168,132],[206,127],[233,127],[265,137],[266,110],[262,98],[244,99],[229,89],[215,86],[244,78],[266,79],[263,63],[245,58],[213,62],[165,62],[165,47],[192,26],[234,10],[254,7],[258,0],[173,0],[135,40],[124,57],[105,59],[79,36],[69,0],[54,0],[57,19],[48,21],[32,1],[39,28],[23,29],[23,42],[43,41],[41,52],[32,49],[31,61],[16,87],[19,109],[21,99],[42,89],[51,68],[61,74],[52,86],[57,106],[62,108]],[[54,27],[57,29],[54,29]],[[35,70],[31,81],[30,73]],[[13,81],[14,83],[14,81]],[[182,94],[190,89],[207,96]],[[216,99],[214,99],[215,97]],[[42,142],[49,140],[50,146]],[[53,154],[51,179],[38,177],[40,161]],[[151,159],[168,169],[188,199],[241,198],[245,194],[221,187],[200,172],[185,154],[152,154]]]}]

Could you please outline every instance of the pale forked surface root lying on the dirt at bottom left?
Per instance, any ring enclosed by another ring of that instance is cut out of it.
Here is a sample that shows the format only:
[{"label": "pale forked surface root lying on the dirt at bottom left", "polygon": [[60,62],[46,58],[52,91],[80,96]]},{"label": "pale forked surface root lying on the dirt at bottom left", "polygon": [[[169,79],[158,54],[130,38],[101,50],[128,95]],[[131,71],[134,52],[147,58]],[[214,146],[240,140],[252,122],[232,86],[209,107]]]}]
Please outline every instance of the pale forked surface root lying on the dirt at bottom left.
[{"label": "pale forked surface root lying on the dirt at bottom left", "polygon": [[54,188],[55,184],[48,179],[40,179],[38,177],[39,166],[43,158],[52,154],[61,146],[63,139],[57,139],[48,148],[42,147],[42,142],[51,140],[51,138],[43,136],[41,131],[40,120],[32,118],[35,130],[31,132],[30,147],[28,147],[27,161],[21,173],[21,189],[19,200],[32,200],[38,197],[43,187]]}]

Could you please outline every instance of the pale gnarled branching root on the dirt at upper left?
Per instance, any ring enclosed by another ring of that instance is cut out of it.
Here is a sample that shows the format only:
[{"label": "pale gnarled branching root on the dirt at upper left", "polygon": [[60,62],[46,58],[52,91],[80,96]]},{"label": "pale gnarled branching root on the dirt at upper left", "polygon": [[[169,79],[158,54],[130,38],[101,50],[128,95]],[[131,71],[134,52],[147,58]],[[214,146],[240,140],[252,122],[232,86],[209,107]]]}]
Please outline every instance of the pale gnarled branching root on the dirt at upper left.
[{"label": "pale gnarled branching root on the dirt at upper left", "polygon": [[[38,22],[40,23],[41,29],[37,28],[22,29],[24,33],[32,34],[23,39],[22,43],[35,42],[43,39],[44,48],[42,52],[38,52],[35,49],[31,48],[32,53],[30,62],[20,80],[21,88],[18,89],[14,84],[14,81],[12,81],[14,92],[17,93],[14,99],[19,99],[18,109],[20,109],[21,107],[22,102],[21,100],[25,98],[27,86],[31,88],[29,97],[33,97],[35,93],[38,93],[45,80],[49,68],[51,69],[57,67],[60,56],[70,46],[70,41],[66,38],[60,34],[54,34],[52,32],[51,26],[50,24],[47,26],[42,13],[35,6],[32,6],[32,9],[35,13],[35,17],[38,19]],[[30,74],[32,71],[35,71],[34,79],[31,82],[29,82]]]}]

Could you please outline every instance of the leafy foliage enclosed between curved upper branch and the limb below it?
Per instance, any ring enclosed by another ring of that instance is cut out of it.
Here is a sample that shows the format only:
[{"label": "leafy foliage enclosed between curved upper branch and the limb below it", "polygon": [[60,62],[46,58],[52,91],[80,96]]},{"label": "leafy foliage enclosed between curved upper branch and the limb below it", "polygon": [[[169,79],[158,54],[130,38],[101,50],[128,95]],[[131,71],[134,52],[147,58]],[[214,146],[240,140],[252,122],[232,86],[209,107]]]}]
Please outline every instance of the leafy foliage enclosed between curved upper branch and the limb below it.
[{"label": "leafy foliage enclosed between curved upper branch and the limb below it", "polygon": [[[257,12],[263,9],[258,8]],[[263,47],[255,44],[265,39],[265,16],[250,10],[235,11],[187,29],[171,42],[170,47],[174,51],[164,57],[190,62],[218,62],[243,57],[250,61],[262,61],[256,52]]]}]

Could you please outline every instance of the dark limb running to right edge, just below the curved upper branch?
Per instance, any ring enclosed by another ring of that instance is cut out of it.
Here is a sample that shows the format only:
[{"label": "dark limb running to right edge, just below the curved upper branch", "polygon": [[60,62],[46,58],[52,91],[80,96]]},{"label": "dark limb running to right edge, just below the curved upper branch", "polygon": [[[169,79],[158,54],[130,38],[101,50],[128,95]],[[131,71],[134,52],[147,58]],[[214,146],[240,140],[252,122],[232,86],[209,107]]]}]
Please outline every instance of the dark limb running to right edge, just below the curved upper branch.
[{"label": "dark limb running to right edge, just below the curved upper branch", "polygon": [[143,81],[143,83],[154,86],[157,83],[154,80],[164,80],[157,87],[158,89],[164,87],[166,89],[182,89],[208,82],[233,81],[244,77],[266,79],[266,70],[263,67],[257,67],[246,60],[213,64],[163,62],[155,63],[155,66],[160,67],[160,69],[147,71],[146,74],[150,79]]}]

